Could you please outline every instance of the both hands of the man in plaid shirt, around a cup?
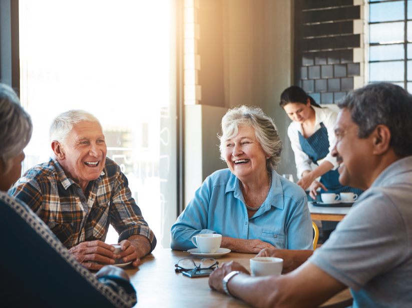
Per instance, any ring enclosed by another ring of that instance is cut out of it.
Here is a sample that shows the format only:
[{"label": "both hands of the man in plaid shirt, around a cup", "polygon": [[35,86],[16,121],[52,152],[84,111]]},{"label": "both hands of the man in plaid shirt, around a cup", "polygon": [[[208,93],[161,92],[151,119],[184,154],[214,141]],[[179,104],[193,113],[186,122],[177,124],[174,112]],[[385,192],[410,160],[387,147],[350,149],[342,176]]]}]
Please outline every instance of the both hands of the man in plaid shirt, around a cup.
[{"label": "both hands of the man in plaid shirt, around a cup", "polygon": [[[132,262],[133,266],[137,266],[140,263],[138,252],[129,240],[122,240],[118,245],[120,245],[122,249],[118,254],[113,253],[115,247],[106,244],[101,240],[82,242],[79,245],[70,248],[69,252],[83,266],[89,269],[98,270],[106,264],[114,264],[116,258],[122,258],[123,262],[134,260]],[[95,262],[102,262],[105,264],[97,264]]]}]

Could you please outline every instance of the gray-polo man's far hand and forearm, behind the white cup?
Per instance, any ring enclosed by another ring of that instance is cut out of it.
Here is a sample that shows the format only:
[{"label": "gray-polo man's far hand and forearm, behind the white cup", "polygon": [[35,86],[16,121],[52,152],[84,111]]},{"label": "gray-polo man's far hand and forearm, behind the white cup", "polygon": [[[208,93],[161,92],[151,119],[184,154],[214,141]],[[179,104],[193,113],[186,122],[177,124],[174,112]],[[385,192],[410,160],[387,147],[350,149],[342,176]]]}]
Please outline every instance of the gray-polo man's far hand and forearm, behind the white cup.
[{"label": "gray-polo man's far hand and forearm, behind the white cup", "polygon": [[306,262],[312,253],[312,250],[263,249],[256,256],[269,256],[283,259],[282,273],[288,273]]}]

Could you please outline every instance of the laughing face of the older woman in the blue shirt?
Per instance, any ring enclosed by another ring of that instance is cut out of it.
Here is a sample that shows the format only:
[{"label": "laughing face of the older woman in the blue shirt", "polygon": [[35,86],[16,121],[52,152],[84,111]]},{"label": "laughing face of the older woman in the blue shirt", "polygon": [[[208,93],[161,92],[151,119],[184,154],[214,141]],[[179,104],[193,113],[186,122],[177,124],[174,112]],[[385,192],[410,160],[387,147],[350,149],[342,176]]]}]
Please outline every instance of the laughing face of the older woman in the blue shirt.
[{"label": "laughing face of the older woman in the blue shirt", "polygon": [[255,130],[238,127],[237,135],[225,141],[225,159],[230,171],[242,182],[253,181],[267,174],[266,156],[256,140]]}]

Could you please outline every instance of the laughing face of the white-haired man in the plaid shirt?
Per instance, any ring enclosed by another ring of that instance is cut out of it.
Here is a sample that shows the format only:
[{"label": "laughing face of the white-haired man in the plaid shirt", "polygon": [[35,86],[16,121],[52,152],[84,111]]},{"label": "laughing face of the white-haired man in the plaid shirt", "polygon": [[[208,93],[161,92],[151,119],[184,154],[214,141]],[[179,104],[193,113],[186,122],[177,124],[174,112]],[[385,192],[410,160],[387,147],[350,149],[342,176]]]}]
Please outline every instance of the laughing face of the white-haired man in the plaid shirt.
[{"label": "laughing face of the white-haired man in the plaid shirt", "polygon": [[106,154],[105,135],[100,125],[83,121],[73,126],[66,143],[61,145],[61,154],[56,158],[66,175],[83,189],[102,173]]}]

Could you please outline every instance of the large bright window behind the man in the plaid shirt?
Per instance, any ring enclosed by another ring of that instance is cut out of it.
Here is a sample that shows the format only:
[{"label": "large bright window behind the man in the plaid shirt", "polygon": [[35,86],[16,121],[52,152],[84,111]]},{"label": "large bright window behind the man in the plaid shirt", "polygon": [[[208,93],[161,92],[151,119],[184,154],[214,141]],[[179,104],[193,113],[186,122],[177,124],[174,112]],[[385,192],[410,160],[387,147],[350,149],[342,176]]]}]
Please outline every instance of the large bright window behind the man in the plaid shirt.
[{"label": "large bright window behind the man in the plaid shirt", "polygon": [[56,115],[93,113],[158,247],[170,245],[177,207],[175,10],[171,0],[20,0],[27,167],[49,160]]}]

